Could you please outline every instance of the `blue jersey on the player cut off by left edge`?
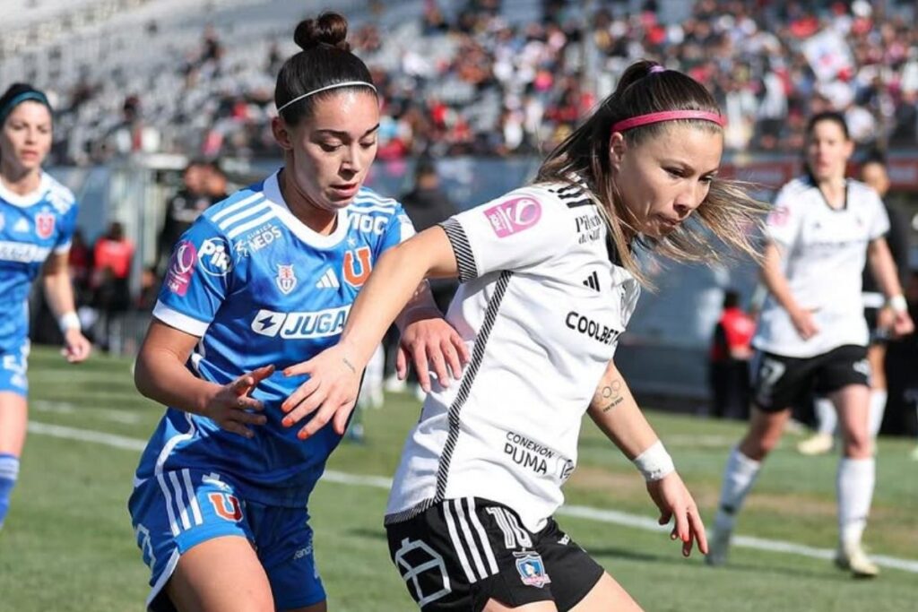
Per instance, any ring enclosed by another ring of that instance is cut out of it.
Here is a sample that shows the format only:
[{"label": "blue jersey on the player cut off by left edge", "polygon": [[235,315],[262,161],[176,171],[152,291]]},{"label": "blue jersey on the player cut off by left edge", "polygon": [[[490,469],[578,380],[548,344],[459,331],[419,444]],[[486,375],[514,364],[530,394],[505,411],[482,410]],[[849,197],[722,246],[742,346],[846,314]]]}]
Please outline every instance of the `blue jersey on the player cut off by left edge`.
[{"label": "blue jersey on the player cut off by left edge", "polygon": [[42,173],[39,188],[17,195],[0,184],[0,352],[28,339],[28,293],[51,252],[67,252],[76,226],[73,193]]}]

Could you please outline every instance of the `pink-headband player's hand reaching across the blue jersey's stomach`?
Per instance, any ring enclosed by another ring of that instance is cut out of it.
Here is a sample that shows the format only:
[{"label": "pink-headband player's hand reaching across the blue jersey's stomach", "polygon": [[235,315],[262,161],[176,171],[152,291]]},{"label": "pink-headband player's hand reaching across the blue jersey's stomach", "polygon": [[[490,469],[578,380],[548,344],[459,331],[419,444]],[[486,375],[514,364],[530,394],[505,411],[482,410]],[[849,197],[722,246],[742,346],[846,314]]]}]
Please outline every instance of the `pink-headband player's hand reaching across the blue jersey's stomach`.
[{"label": "pink-headband player's hand reaching across the blue jersey's stomach", "polygon": [[315,416],[297,432],[297,438],[306,440],[329,421],[332,421],[338,435],[344,435],[347,419],[357,402],[364,365],[354,363],[341,344],[337,344],[308,362],[286,368],[285,376],[308,374],[309,380],[300,384],[281,404],[281,410],[286,413],[281,424],[286,428],[293,427],[297,421],[318,409]]}]

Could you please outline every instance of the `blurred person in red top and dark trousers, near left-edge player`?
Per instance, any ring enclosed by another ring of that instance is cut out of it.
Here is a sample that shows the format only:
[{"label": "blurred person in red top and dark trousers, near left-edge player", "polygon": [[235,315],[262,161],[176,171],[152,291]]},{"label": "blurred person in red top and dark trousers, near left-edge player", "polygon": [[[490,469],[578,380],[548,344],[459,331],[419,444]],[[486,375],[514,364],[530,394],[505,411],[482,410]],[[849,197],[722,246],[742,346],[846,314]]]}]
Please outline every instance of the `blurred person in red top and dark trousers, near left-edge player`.
[{"label": "blurred person in red top and dark trousers, near left-edge player", "polygon": [[95,341],[104,351],[120,354],[124,342],[125,316],[130,309],[130,269],[134,243],[124,226],[113,221],[93,248],[93,290],[101,319]]}]

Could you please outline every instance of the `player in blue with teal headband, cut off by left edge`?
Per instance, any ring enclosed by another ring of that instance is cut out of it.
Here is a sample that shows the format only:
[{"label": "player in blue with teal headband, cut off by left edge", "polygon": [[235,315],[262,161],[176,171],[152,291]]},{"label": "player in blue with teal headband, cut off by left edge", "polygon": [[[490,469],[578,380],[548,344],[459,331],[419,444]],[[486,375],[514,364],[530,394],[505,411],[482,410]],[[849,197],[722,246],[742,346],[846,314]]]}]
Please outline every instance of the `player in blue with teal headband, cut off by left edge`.
[{"label": "player in blue with teal headband, cut off by left edge", "polygon": [[19,473],[28,420],[28,293],[41,274],[67,361],[90,344],[80,331],[67,269],[76,202],[41,164],[51,147],[48,98],[25,83],[0,96],[0,528]]}]

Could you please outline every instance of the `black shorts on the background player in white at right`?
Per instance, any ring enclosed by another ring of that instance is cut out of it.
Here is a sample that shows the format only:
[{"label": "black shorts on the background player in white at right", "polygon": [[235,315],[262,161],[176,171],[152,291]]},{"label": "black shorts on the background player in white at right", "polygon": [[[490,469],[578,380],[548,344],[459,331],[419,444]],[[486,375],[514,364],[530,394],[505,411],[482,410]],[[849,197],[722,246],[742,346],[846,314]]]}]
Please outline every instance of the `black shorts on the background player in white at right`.
[{"label": "black shorts on the background player in white at right", "polygon": [[765,412],[793,406],[810,392],[828,395],[849,384],[870,384],[867,348],[847,344],[815,357],[782,357],[756,351],[753,403]]}]

